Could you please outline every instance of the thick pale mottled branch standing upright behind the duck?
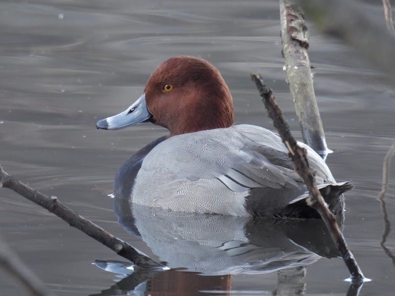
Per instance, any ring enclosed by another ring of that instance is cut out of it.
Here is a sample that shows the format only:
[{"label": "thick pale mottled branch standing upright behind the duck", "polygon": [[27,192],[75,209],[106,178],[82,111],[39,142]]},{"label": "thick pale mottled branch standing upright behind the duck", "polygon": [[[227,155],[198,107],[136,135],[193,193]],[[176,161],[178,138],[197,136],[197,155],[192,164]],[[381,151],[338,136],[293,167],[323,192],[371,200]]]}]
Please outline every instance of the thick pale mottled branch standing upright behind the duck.
[{"label": "thick pale mottled branch standing upright behind the duck", "polygon": [[327,155],[324,129],[314,93],[308,55],[309,32],[295,0],[280,0],[284,70],[302,131],[303,142],[323,158]]}]

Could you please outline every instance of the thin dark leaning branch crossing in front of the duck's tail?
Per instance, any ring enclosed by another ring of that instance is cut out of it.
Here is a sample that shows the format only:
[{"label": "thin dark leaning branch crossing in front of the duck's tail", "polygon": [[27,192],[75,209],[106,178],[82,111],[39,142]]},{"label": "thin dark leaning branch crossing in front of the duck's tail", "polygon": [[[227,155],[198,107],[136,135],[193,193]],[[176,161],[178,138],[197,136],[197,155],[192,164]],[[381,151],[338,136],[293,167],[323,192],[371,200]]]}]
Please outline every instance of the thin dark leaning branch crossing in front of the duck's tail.
[{"label": "thin dark leaning branch crossing in front of the duck's tail", "polygon": [[336,223],[336,217],[328,209],[320,191],[317,188],[317,184],[309,169],[306,150],[298,146],[295,138],[291,135],[289,126],[284,121],[282,112],[275,102],[273,91],[263,84],[263,80],[258,74],[251,74],[251,77],[259,90],[259,94],[262,97],[262,101],[265,103],[269,116],[273,120],[274,126],[277,128],[283,142],[288,147],[288,155],[292,160],[296,172],[303,178],[304,184],[309,189],[310,196],[306,201],[307,204],[314,208],[325,222],[333,241],[337,245],[341,257],[351,274],[352,281],[362,283],[364,275],[362,274],[353,253],[348,249],[347,243],[345,242],[339,226]]}]

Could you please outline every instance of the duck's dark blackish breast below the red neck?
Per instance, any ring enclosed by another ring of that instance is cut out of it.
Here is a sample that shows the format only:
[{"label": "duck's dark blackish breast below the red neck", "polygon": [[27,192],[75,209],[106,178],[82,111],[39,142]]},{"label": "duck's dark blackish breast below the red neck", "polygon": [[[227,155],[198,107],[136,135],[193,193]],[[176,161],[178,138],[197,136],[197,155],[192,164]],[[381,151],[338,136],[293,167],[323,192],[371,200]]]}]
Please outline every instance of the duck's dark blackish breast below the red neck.
[{"label": "duck's dark blackish breast below the red neck", "polygon": [[152,141],[144,148],[132,155],[118,170],[114,180],[114,195],[117,199],[129,200],[131,188],[135,183],[137,173],[141,168],[144,158],[154,147],[163,142],[166,136]]}]

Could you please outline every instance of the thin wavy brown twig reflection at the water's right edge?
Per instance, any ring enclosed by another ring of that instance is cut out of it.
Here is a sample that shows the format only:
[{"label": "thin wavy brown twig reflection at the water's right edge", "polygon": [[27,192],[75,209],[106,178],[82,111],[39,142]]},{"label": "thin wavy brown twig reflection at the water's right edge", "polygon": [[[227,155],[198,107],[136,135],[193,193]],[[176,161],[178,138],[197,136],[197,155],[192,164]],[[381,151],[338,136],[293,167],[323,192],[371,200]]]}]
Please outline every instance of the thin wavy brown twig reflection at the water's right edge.
[{"label": "thin wavy brown twig reflection at the water's right edge", "polygon": [[389,147],[389,150],[384,157],[383,182],[382,182],[380,194],[377,196],[377,199],[380,202],[381,213],[383,215],[383,220],[384,220],[384,232],[383,232],[383,235],[381,236],[380,246],[384,250],[384,253],[392,260],[392,265],[395,267],[395,256],[393,256],[391,251],[389,251],[386,248],[386,246],[384,245],[384,243],[387,240],[387,237],[389,235],[389,232],[391,231],[391,223],[388,220],[388,214],[387,214],[387,209],[385,207],[384,196],[385,196],[385,193],[387,192],[387,188],[388,188],[389,163],[391,162],[391,158],[392,158],[394,152],[395,152],[395,141]]}]

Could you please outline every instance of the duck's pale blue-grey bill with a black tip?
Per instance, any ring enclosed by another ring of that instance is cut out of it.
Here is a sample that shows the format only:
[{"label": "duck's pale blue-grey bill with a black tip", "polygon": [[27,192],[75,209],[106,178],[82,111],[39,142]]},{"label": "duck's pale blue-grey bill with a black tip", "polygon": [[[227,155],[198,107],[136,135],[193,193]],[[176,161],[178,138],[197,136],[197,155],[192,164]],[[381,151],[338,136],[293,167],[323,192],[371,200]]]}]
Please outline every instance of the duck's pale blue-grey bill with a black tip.
[{"label": "duck's pale blue-grey bill with a black tip", "polygon": [[139,97],[133,105],[122,113],[99,120],[96,124],[97,129],[122,129],[134,124],[145,122],[151,118],[151,114],[147,109],[145,94]]}]

